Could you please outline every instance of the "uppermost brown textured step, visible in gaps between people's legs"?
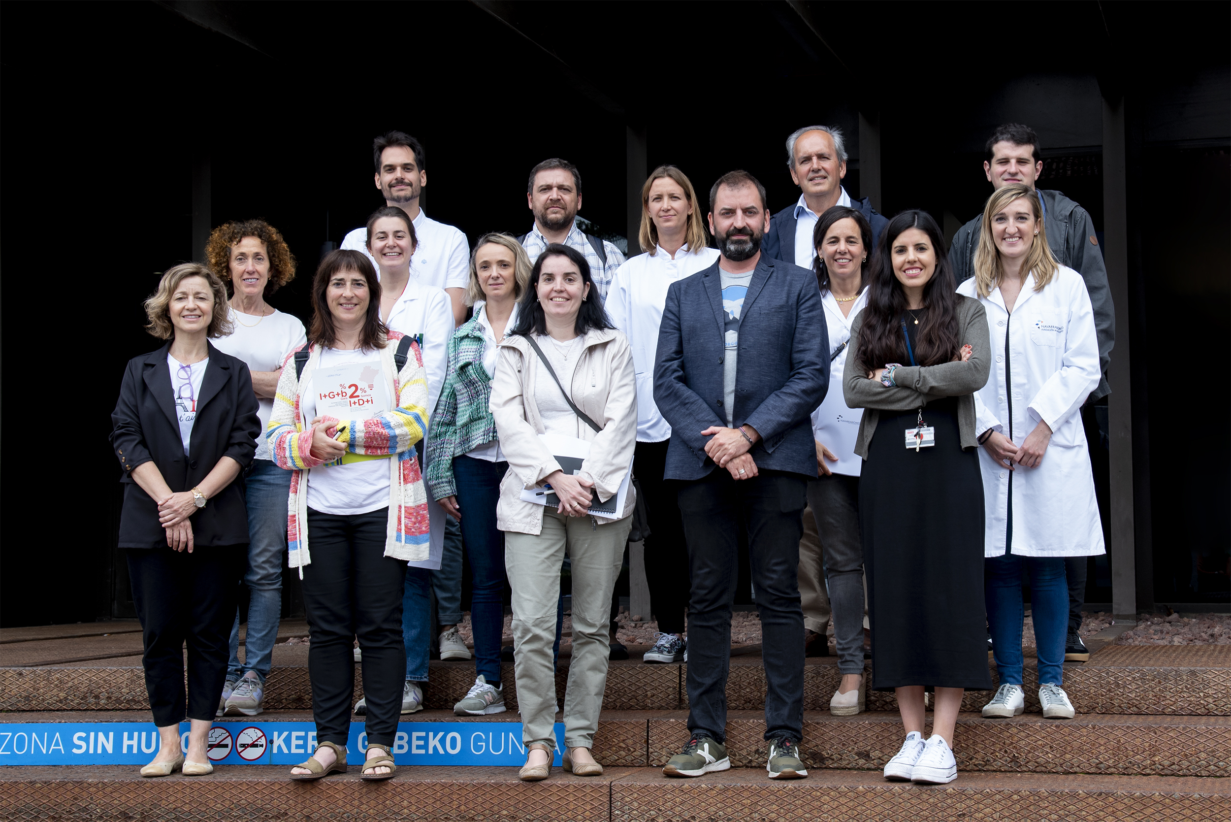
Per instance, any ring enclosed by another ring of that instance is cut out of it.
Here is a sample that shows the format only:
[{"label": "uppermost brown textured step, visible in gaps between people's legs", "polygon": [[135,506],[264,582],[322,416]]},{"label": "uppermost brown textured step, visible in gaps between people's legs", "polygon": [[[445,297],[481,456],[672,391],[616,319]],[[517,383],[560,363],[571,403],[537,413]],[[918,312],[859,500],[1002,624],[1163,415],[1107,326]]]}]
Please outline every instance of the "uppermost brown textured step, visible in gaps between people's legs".
[{"label": "uppermost brown textured step, visible in gaps between people's legs", "polygon": [[[270,709],[308,709],[308,648],[277,646],[275,668],[266,688]],[[294,653],[292,653],[294,652]],[[995,664],[988,655],[993,687]],[[872,663],[867,666],[870,673]],[[556,694],[563,698],[569,660],[561,656]],[[766,677],[760,650],[732,652],[726,698],[731,710],[762,710]],[[833,657],[809,658],[804,668],[804,709],[825,710],[840,674]],[[474,682],[473,662],[432,662],[425,706],[448,709]],[[604,708],[612,710],[676,710],[688,706],[687,666],[645,664],[639,657],[612,662]],[[1025,664],[1027,711],[1038,711],[1038,669]],[[501,666],[505,700],[517,708],[513,663]],[[1065,690],[1083,714],[1231,716],[1231,646],[1126,646],[1097,651],[1089,662],[1065,664]],[[356,666],[355,699],[363,693],[361,666]],[[963,710],[977,711],[988,692],[968,692]],[[127,667],[52,666],[0,667],[0,711],[126,710],[146,708],[145,679],[139,658]],[[891,692],[869,692],[868,709],[896,710]]]}]

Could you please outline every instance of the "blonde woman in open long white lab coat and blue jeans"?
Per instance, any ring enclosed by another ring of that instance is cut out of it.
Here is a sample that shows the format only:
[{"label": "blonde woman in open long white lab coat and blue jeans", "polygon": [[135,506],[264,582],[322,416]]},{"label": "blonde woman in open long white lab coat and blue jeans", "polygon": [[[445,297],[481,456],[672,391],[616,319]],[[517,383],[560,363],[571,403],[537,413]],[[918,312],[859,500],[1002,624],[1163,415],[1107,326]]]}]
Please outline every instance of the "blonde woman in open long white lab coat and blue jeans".
[{"label": "blonde woman in open long white lab coat and blue jeans", "polygon": [[987,385],[975,394],[985,596],[1001,683],[984,716],[1024,709],[1023,571],[1030,576],[1043,715],[1073,716],[1060,687],[1065,557],[1104,551],[1078,413],[1099,380],[1094,315],[1081,274],[1056,262],[1044,231],[1034,190],[1000,188],[984,209],[975,276],[958,288],[984,304],[993,358]]}]

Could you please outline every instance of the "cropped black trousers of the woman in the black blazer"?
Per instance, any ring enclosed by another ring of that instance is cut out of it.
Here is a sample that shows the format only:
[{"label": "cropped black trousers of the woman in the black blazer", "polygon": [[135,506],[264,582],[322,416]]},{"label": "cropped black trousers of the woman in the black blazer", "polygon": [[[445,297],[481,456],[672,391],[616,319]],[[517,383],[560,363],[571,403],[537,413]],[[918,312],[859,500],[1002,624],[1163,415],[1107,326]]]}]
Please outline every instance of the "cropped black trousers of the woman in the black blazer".
[{"label": "cropped black trousers of the woman in the black blazer", "polygon": [[191,554],[170,548],[128,549],[128,578],[142,621],[142,667],[154,725],[166,727],[185,719],[213,721],[218,712],[246,561],[247,545],[197,545]]}]

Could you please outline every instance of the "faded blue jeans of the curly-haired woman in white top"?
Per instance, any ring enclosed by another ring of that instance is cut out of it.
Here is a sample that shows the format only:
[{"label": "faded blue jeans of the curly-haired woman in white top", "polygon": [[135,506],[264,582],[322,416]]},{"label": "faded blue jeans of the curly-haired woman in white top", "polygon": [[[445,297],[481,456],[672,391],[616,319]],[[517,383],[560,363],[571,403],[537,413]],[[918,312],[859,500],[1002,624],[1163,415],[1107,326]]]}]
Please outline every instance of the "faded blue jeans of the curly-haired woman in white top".
[{"label": "faded blue jeans of the curly-haired woman in white top", "polygon": [[244,476],[247,489],[247,570],[244,583],[251,593],[247,605],[247,639],[244,663],[239,661],[239,612],[231,625],[230,663],[227,678],[239,679],[254,671],[265,683],[273,660],[282,618],[282,564],[287,553],[287,500],[291,471],[273,460],[255,459]]}]

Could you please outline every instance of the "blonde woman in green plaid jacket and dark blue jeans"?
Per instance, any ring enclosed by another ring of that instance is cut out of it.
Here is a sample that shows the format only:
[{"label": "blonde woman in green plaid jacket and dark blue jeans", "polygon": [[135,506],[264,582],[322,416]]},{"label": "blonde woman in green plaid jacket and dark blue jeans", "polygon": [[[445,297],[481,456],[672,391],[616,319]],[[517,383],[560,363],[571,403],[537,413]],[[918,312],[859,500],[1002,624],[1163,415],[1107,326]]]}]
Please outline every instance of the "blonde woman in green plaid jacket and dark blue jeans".
[{"label": "blonde woman in green plaid jacket and dark blue jeans", "polygon": [[[427,475],[433,500],[462,527],[474,578],[470,624],[476,678],[453,706],[458,716],[500,714],[500,639],[505,609],[505,535],[496,528],[500,480],[508,463],[500,452],[487,404],[496,347],[516,322],[517,300],[531,277],[531,261],[507,234],[486,234],[470,255],[467,301],[474,317],[449,338],[444,388],[427,437]],[[463,517],[463,512],[465,516]]]}]

